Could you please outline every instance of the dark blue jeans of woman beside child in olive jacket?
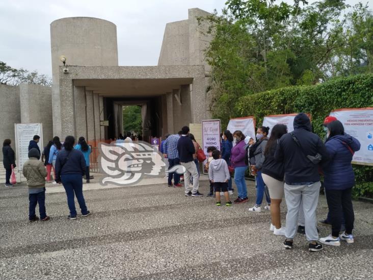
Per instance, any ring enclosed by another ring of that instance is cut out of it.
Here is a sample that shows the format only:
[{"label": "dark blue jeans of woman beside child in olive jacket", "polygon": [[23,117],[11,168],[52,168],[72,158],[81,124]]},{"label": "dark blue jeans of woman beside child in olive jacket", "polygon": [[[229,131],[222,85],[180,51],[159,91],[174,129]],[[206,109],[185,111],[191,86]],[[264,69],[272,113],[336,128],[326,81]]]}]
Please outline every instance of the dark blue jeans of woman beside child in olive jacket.
[{"label": "dark blue jeans of woman beside child in olive jacket", "polygon": [[82,214],[88,214],[86,201],[83,196],[83,179],[82,174],[63,174],[61,175],[62,185],[67,195],[67,205],[69,206],[70,216],[76,216],[74,194],[81,208]]}]

